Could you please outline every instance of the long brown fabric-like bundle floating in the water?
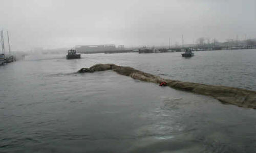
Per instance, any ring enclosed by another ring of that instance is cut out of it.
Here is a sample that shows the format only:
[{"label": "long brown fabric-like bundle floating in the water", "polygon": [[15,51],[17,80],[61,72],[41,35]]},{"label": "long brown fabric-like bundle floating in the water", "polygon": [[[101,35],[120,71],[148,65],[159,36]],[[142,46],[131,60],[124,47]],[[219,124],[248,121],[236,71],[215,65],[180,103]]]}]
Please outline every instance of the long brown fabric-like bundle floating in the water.
[{"label": "long brown fabric-like bundle floating in the water", "polygon": [[161,82],[166,82],[167,86],[169,87],[197,94],[212,96],[221,101],[223,104],[232,104],[239,107],[256,109],[256,91],[252,90],[163,79],[156,75],[145,73],[132,67],[118,66],[115,64],[96,64],[91,66],[90,68],[81,68],[80,70],[78,70],[78,73],[104,70],[113,70],[119,74],[130,76],[133,79],[145,82],[157,84]]}]

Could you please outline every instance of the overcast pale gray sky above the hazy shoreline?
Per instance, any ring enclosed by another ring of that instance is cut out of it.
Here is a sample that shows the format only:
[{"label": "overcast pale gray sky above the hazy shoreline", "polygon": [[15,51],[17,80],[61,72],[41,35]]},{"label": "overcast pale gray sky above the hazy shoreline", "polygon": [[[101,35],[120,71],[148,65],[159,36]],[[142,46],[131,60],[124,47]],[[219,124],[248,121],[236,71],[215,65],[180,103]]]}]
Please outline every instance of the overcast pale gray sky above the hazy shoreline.
[{"label": "overcast pale gray sky above the hazy shoreline", "polygon": [[255,0],[1,0],[14,50],[89,44],[168,45],[256,37]]}]

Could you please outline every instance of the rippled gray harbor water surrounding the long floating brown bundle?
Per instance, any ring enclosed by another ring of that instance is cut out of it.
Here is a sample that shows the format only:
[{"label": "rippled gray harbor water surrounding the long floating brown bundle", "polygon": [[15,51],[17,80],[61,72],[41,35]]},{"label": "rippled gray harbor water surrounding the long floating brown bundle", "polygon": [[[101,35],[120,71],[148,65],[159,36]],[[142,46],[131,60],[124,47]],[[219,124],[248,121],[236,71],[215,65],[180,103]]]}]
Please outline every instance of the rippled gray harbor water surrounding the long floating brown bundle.
[{"label": "rippled gray harbor water surrounding the long floating brown bundle", "polygon": [[133,80],[115,63],[174,80],[256,90],[256,50],[30,56],[0,67],[0,152],[255,152],[256,111]]}]

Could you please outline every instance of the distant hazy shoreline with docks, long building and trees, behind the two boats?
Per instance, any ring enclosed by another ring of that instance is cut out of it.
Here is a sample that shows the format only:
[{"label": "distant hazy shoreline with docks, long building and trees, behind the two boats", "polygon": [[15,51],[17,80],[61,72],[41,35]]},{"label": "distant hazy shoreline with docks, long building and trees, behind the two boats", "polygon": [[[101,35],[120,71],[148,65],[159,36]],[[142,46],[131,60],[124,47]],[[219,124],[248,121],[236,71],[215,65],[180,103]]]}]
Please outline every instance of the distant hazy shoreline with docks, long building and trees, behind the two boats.
[{"label": "distant hazy shoreline with docks, long building and trees, behind the two boats", "polygon": [[[207,40],[207,43],[206,43]],[[209,50],[244,50],[255,49],[256,39],[234,40],[228,39],[228,41],[219,42],[216,39],[210,41],[209,38],[200,37],[197,39],[197,43],[184,44],[184,38],[182,35],[182,45],[143,45],[137,47],[125,47],[124,45],[115,44],[98,44],[98,45],[76,45],[74,48],[80,54],[115,54],[115,53],[139,53],[139,54],[151,54],[151,53],[175,53],[185,52],[190,50],[191,52],[209,51]],[[193,54],[191,54],[193,55]],[[189,55],[190,57],[190,55]]]}]

